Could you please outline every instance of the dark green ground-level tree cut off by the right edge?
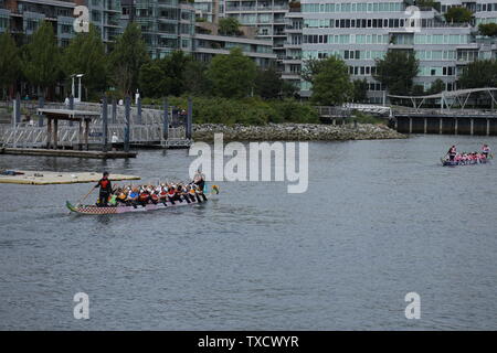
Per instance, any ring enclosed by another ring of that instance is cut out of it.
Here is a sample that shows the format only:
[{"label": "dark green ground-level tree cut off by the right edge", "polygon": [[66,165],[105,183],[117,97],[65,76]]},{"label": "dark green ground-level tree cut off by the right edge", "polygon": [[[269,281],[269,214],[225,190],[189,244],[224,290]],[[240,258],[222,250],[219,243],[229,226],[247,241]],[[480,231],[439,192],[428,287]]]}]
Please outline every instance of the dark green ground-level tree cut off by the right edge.
[{"label": "dark green ground-level tree cut off by the right edge", "polygon": [[497,62],[495,60],[477,60],[469,63],[463,69],[458,85],[464,88],[496,87]]}]

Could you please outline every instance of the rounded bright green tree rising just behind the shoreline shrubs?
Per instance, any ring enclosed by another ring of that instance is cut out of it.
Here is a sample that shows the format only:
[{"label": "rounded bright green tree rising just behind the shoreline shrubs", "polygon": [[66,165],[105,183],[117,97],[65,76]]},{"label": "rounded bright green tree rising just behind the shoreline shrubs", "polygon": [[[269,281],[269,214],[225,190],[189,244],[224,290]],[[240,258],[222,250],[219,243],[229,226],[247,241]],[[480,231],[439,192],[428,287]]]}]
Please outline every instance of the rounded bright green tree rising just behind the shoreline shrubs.
[{"label": "rounded bright green tree rising just behind the shoreline shrubs", "polygon": [[256,65],[244,56],[240,47],[233,47],[229,55],[216,55],[208,68],[212,92],[225,98],[243,98],[254,88]]}]

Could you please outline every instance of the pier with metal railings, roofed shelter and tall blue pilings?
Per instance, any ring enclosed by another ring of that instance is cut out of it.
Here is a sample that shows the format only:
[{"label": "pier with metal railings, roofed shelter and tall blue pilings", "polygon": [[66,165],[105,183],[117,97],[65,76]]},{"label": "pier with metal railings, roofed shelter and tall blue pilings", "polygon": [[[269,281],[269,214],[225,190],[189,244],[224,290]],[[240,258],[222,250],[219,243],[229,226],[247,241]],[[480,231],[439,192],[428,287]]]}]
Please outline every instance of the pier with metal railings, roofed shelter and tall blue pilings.
[{"label": "pier with metal railings, roofed shelter and tall blue pilings", "polygon": [[39,107],[30,106],[25,119],[20,116],[21,105],[13,105],[18,108],[12,124],[0,126],[0,146],[6,148],[105,152],[116,138],[115,145],[125,151],[130,147],[188,148],[192,143],[191,99],[187,110],[169,106],[167,100],[162,109],[142,107],[140,101],[131,106],[129,97],[124,105],[107,104],[105,97],[102,104],[42,101]]}]

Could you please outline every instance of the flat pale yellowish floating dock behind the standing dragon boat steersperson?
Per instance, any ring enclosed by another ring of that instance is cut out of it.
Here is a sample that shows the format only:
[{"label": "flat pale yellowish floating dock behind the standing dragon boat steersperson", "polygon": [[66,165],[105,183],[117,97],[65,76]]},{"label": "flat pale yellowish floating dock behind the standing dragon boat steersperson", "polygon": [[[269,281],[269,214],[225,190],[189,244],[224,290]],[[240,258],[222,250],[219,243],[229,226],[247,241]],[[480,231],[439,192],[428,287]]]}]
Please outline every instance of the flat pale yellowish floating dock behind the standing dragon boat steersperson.
[{"label": "flat pale yellowish floating dock behind the standing dragon boat steersperson", "polygon": [[[76,184],[97,182],[102,178],[102,173],[97,172],[50,172],[50,171],[25,171],[14,170],[18,175],[0,175],[2,184],[29,184],[29,185],[51,185],[51,184]],[[113,174],[110,181],[123,180],[140,180],[140,176]]]}]

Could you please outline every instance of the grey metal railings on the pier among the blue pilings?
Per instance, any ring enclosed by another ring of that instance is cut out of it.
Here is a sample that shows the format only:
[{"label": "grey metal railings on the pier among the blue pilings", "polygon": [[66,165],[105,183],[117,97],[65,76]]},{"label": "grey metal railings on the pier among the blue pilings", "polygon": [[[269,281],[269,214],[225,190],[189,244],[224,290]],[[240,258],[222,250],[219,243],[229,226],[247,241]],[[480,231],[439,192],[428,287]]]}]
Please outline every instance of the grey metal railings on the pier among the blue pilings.
[{"label": "grey metal railings on the pier among the blue pilings", "polygon": [[[12,101],[0,101],[0,107],[11,107]],[[38,116],[40,104],[36,101],[21,101],[20,107],[24,119],[13,124],[0,124],[0,145],[15,148],[41,148],[47,145],[46,120]],[[44,108],[68,109],[63,103],[45,103]],[[88,127],[88,143],[103,145],[103,105],[96,103],[74,103],[75,110],[96,111],[101,115],[94,117]],[[115,133],[119,142],[125,140],[127,126],[126,111],[123,105],[107,104],[107,142],[110,143]],[[130,106],[129,114],[129,142],[135,146],[157,145],[168,147],[188,147],[191,139],[187,138],[184,115],[173,114],[169,107],[168,131],[165,135],[165,110],[154,107]],[[13,119],[13,118],[12,118]],[[57,129],[59,146],[62,148],[75,148],[83,143],[80,141],[80,127],[68,120],[60,120]]]}]

